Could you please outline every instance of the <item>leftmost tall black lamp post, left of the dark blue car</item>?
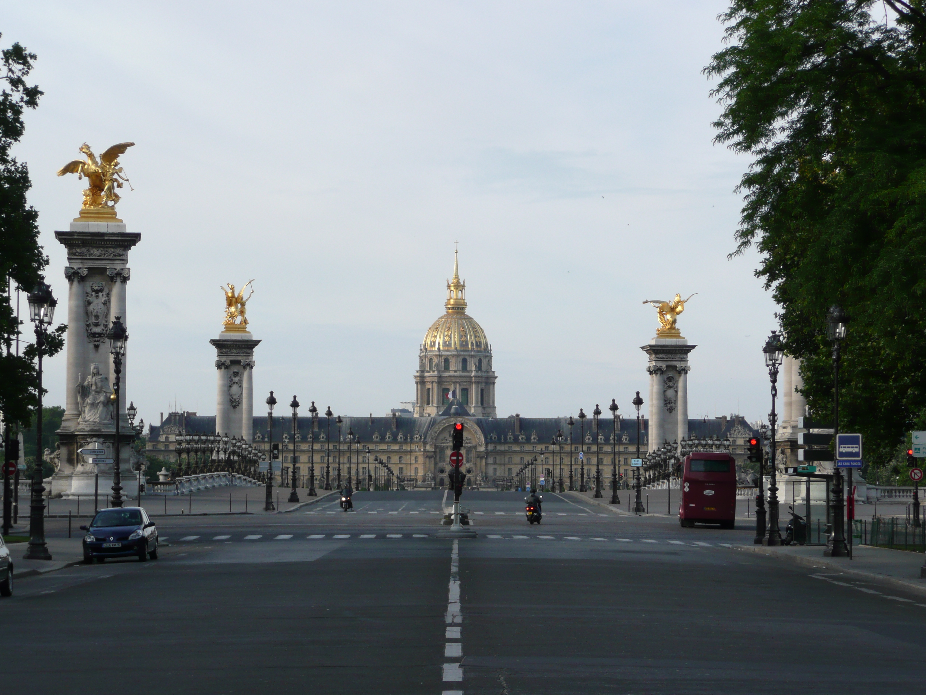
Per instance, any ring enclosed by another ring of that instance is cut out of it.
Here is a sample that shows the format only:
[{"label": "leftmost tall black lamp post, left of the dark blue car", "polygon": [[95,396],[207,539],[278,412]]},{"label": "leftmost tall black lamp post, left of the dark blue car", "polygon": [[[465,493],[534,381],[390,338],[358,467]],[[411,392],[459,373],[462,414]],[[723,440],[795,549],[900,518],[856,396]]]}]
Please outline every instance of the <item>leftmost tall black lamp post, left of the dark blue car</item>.
[{"label": "leftmost tall black lamp post, left of the dark blue car", "polygon": [[[29,507],[29,548],[23,555],[25,560],[51,560],[52,554],[48,552],[45,543],[44,525],[44,491],[42,485],[42,468],[44,450],[42,449],[42,358],[44,356],[45,335],[48,326],[55,317],[57,300],[52,296],[52,288],[40,277],[35,289],[29,294],[29,312],[35,324],[35,350],[38,357],[38,411],[35,418],[35,468],[32,471],[32,495]],[[12,582],[12,580],[10,580]]]}]

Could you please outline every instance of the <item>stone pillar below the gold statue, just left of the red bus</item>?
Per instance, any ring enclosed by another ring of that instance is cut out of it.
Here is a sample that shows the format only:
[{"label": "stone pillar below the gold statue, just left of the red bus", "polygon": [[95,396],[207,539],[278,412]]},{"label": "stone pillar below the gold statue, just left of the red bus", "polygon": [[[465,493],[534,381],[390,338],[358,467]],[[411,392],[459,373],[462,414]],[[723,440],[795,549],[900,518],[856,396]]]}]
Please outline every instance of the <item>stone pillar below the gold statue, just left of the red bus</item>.
[{"label": "stone pillar below the gold statue, just left of the red bus", "polygon": [[657,336],[640,347],[649,357],[649,451],[688,436],[688,353],[694,347],[681,335]]}]

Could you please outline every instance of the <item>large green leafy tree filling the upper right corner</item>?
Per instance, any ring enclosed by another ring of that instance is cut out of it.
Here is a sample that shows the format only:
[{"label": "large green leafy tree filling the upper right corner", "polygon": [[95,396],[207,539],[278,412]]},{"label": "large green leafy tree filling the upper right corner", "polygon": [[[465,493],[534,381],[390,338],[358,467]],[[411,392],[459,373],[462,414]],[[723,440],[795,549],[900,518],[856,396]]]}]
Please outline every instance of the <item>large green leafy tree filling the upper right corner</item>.
[{"label": "large green leafy tree filling the upper right corner", "polygon": [[716,142],[754,157],[733,253],[757,246],[757,276],[825,420],[825,316],[847,312],[839,425],[881,462],[926,422],[924,5],[733,0],[720,16],[728,45],[705,69],[720,79]]}]

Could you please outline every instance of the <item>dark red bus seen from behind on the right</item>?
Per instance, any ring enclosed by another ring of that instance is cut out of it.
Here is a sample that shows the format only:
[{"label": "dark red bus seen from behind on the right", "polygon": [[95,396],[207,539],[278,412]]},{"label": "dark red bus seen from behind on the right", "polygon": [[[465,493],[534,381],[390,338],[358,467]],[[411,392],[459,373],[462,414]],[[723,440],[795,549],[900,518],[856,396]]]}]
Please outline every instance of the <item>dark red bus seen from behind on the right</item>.
[{"label": "dark red bus seen from behind on the right", "polygon": [[736,461],[729,454],[695,451],[685,457],[679,524],[720,524],[736,519]]}]

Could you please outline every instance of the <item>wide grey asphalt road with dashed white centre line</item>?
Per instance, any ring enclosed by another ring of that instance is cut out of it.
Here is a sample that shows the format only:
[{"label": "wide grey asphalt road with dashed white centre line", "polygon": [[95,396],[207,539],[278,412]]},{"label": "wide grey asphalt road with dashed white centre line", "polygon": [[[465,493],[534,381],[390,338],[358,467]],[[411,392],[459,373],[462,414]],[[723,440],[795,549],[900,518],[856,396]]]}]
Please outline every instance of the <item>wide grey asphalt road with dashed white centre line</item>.
[{"label": "wide grey asphalt road with dashed white centre line", "polygon": [[0,656],[0,683],[11,693],[921,689],[919,595],[733,550],[748,528],[681,528],[553,495],[531,526],[523,493],[466,493],[480,537],[455,542],[435,537],[441,498],[358,493],[353,513],[322,503],[158,520],[169,543],[159,560],[22,579],[0,600],[21,655]]}]

